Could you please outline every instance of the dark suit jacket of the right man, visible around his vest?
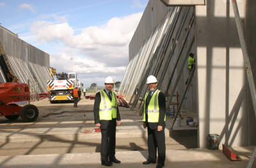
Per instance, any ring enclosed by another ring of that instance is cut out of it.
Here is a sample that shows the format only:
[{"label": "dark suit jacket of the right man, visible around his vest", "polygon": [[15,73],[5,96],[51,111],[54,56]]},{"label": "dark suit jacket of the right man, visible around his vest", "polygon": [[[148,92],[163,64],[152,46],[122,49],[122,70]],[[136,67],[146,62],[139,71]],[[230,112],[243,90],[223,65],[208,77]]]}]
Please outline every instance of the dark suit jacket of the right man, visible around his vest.
[{"label": "dark suit jacket of the right man, visible around his vest", "polygon": [[166,115],[166,108],[165,108],[165,96],[163,92],[159,92],[158,104],[159,104],[159,122],[149,123],[147,122],[147,117],[146,117],[147,127],[150,127],[150,129],[157,129],[158,125],[162,125],[163,127],[165,127],[164,117]]}]

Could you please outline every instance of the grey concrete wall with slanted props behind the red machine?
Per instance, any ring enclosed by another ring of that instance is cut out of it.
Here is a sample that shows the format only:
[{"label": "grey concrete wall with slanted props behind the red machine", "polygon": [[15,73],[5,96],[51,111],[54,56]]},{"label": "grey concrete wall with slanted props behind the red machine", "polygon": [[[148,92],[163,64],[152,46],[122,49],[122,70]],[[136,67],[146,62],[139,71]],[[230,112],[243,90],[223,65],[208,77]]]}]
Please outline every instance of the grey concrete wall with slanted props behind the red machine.
[{"label": "grey concrete wall with slanted props behind the red machine", "polygon": [[[28,83],[31,93],[47,92],[47,80],[51,80],[49,73],[50,57],[48,53],[29,45],[26,41],[0,26],[1,54],[5,53],[10,66],[19,82]],[[0,67],[0,83],[4,79]],[[33,94],[35,95],[35,94]]]}]

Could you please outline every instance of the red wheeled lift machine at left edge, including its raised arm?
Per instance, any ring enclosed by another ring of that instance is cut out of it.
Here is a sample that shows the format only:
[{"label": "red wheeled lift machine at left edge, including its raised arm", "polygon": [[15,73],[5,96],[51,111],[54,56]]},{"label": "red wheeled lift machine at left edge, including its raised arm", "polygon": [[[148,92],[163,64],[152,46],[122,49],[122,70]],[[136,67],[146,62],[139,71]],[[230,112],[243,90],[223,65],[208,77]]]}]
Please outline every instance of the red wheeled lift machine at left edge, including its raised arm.
[{"label": "red wheeled lift machine at left edge, including its raised arm", "polygon": [[0,52],[0,69],[4,79],[0,83],[0,116],[9,120],[16,120],[20,116],[24,122],[34,122],[38,117],[38,108],[29,104],[29,85],[18,83],[1,43]]}]

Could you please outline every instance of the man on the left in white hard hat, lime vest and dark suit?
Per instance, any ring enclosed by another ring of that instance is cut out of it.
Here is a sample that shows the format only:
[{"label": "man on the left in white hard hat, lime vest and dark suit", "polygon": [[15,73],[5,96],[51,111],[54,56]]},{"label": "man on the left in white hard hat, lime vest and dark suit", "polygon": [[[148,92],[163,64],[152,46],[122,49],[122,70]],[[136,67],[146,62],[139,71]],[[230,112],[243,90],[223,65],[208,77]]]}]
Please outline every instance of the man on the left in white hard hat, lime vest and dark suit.
[{"label": "man on the left in white hard hat, lime vest and dark suit", "polygon": [[105,81],[105,89],[95,95],[94,121],[101,129],[101,164],[110,166],[113,162],[120,164],[115,157],[116,148],[116,123],[120,125],[121,118],[118,110],[116,94],[112,92],[114,79],[108,76]]}]

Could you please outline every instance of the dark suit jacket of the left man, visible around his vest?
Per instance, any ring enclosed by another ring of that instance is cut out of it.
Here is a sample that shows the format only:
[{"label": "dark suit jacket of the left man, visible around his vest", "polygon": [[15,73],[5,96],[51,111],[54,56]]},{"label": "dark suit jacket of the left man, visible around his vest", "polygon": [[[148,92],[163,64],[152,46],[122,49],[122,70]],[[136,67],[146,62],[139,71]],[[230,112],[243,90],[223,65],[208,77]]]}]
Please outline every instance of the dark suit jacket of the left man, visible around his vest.
[{"label": "dark suit jacket of the left man, visible around his vest", "polygon": [[[106,92],[105,89],[103,91]],[[108,98],[106,98],[106,99],[108,99]],[[100,129],[107,129],[109,120],[100,120],[100,116],[99,116],[100,101],[101,101],[100,92],[98,92],[95,95],[95,102],[94,102],[94,108],[93,108],[94,123],[95,124],[100,123]],[[116,109],[116,117],[117,118],[115,120],[118,120],[118,121],[121,120],[118,106],[117,106],[117,109]],[[115,124],[116,124],[116,122],[115,122]]]}]

